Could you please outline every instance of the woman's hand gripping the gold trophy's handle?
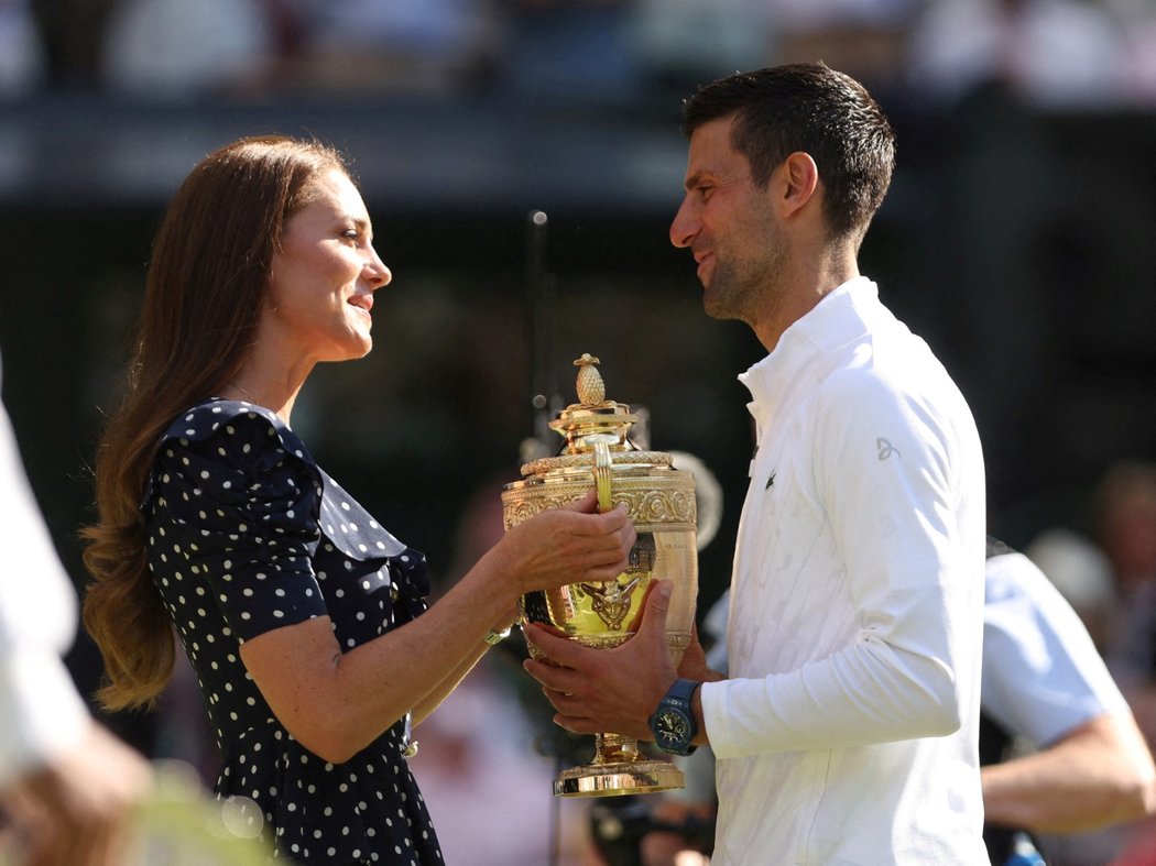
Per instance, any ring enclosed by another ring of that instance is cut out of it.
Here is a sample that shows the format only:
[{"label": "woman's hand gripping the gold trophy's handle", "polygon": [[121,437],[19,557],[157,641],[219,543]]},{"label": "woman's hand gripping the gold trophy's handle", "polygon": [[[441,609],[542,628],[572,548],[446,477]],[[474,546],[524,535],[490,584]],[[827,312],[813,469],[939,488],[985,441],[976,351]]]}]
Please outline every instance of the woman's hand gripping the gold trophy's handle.
[{"label": "woman's hand gripping the gold trophy's handle", "polygon": [[591,488],[580,499],[511,529],[490,551],[498,573],[513,576],[518,595],[613,581],[627,570],[637,533],[624,505],[605,514],[596,514],[596,507]]}]

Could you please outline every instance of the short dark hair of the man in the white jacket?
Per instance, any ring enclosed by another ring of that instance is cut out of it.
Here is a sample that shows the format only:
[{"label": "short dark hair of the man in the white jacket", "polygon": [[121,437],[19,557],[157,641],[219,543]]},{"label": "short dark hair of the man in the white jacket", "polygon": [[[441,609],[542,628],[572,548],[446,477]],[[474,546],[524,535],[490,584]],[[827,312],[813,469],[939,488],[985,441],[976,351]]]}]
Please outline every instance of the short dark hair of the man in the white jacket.
[{"label": "short dark hair of the man in the white jacket", "polygon": [[895,167],[895,132],[862,84],[823,64],[738,73],[686,100],[682,132],[689,137],[732,114],[731,143],[747,158],[756,185],[764,187],[794,151],[809,154],[831,236],[862,239]]}]

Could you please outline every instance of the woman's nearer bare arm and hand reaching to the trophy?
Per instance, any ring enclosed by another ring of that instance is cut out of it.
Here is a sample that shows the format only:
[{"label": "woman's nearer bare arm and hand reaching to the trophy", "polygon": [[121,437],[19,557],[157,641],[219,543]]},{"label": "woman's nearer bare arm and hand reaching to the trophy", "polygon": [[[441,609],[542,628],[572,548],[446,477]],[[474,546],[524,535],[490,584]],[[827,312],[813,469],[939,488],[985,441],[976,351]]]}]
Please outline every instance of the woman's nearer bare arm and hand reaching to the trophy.
[{"label": "woman's nearer bare arm and hand reaching to the trophy", "polygon": [[246,641],[242,660],[286,729],[320,757],[343,762],[406,712],[437,706],[519,596],[625,569],[629,517],[593,510],[591,492],[516,527],[429,611],[348,652],[319,617]]}]

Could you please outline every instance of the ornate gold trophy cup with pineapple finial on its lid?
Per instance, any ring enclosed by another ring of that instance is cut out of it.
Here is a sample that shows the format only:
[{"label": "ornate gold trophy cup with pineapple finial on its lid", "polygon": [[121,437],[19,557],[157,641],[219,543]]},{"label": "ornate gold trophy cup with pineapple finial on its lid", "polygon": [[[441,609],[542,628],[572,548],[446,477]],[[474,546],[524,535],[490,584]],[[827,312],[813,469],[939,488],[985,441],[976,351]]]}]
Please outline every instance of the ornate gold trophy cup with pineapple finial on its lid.
[{"label": "ornate gold trophy cup with pineapple finial on its lid", "polygon": [[[558,412],[550,430],[565,436],[562,453],[526,463],[523,479],[505,485],[505,529],[539,512],[573,501],[593,477],[599,510],[625,502],[638,532],[627,570],[614,581],[571,583],[523,596],[521,621],[547,624],[584,647],[612,649],[636,628],[652,580],[674,583],[667,640],[675,665],[690,643],[698,596],[695,546],[695,480],[672,466],[669,454],[640,450],[628,438],[636,415],[606,400],[598,358],[583,354],[578,366],[578,403]],[[539,657],[533,644],[531,655]],[[594,757],[563,770],[554,782],[557,797],[609,797],[683,787],[683,774],[664,759],[649,759],[632,737],[595,734]]]}]

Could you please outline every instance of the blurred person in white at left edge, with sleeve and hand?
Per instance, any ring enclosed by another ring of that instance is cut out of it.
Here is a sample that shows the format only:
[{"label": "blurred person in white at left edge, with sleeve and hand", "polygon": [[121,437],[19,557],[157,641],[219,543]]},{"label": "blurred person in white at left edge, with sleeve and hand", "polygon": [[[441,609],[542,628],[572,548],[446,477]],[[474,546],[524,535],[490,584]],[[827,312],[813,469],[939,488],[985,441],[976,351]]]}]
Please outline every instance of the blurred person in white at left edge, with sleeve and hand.
[{"label": "blurred person in white at left edge, with sleeve and hand", "polygon": [[[151,785],[148,763],[98,725],[60,654],[76,596],[0,406],[0,860],[124,864],[124,824]],[[7,838],[5,838],[7,837]],[[14,838],[15,837],[15,838]]]}]

